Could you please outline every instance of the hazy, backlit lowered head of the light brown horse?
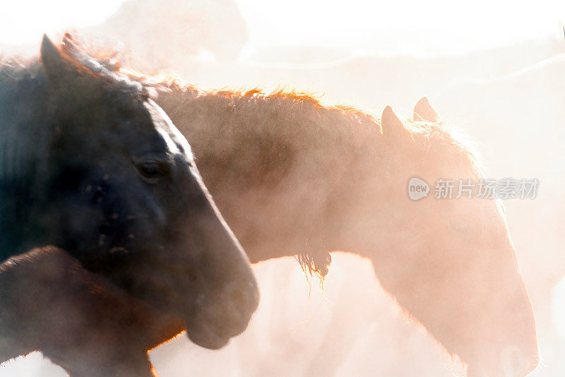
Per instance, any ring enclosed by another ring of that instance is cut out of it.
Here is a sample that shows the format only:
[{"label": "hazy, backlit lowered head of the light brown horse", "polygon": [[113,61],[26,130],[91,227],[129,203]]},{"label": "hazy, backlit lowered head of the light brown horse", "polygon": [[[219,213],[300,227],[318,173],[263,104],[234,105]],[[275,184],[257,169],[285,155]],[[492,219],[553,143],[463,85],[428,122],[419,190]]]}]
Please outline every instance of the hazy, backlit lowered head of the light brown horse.
[{"label": "hazy, backlit lowered head of the light brown horse", "polygon": [[[371,207],[380,239],[376,274],[468,364],[469,377],[525,376],[537,366],[537,337],[504,208],[482,196],[475,153],[439,123],[425,97],[414,114],[407,123],[390,107],[382,114],[388,182],[373,191],[379,196],[378,209]],[[416,196],[415,177],[423,186]],[[465,190],[457,193],[460,185]]]}]

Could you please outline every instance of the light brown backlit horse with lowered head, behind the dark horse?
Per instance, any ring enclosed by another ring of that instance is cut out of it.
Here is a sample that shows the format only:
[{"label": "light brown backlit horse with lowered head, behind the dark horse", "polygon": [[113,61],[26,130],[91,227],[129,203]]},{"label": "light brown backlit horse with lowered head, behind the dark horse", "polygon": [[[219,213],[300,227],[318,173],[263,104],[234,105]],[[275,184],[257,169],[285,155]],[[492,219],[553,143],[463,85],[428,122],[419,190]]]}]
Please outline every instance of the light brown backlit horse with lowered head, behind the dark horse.
[{"label": "light brown backlit horse with lowered head, behind the dark horse", "polygon": [[[439,122],[427,100],[414,120],[400,121],[386,107],[379,121],[309,95],[167,85],[157,102],[190,140],[252,262],[298,255],[324,275],[328,251],[357,253],[371,259],[398,304],[468,364],[468,376],[535,368],[533,311],[501,203],[408,197],[413,176],[430,184],[483,176],[469,143]],[[166,323],[169,334],[143,328],[153,345],[181,330]]]}]

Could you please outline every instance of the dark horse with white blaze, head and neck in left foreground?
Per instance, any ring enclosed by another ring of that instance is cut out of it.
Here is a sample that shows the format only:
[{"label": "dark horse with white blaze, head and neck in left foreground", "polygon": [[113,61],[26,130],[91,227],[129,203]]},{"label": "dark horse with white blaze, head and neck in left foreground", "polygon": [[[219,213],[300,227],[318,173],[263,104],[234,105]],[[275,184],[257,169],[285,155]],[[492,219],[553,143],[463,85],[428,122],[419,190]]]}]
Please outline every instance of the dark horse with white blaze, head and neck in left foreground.
[{"label": "dark horse with white blaze, head and neck in left foreground", "polygon": [[[61,51],[44,37],[39,62],[0,66],[0,261],[10,258],[3,268],[13,272],[29,260],[15,256],[57,246],[215,349],[246,328],[258,304],[256,281],[189,143],[148,93],[69,35]],[[21,285],[35,289],[28,292],[8,278],[13,273],[2,275],[2,310],[48,281],[25,285],[33,274],[20,275]],[[65,296],[55,291],[54,302],[57,293]],[[18,307],[28,314],[39,303],[26,302]],[[15,327],[0,323],[2,359],[13,356]]]}]

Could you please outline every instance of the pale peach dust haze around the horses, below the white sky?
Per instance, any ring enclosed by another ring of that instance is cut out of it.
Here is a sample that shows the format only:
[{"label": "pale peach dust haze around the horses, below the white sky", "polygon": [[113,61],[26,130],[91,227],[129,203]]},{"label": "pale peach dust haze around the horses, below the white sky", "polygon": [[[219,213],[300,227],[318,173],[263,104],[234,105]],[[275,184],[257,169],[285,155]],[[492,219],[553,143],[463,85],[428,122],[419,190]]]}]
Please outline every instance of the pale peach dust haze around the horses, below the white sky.
[{"label": "pale peach dust haze around the horses, below the white sky", "polygon": [[[66,27],[61,25],[59,33]],[[420,97],[429,97],[444,121],[478,141],[487,176],[540,181],[537,198],[504,205],[537,325],[540,366],[531,376],[564,373],[562,35],[425,57],[351,54],[328,44],[251,48],[249,25],[232,0],[126,1],[99,25],[76,29],[93,46],[119,51],[124,66],[176,75],[207,88],[306,90],[323,94],[324,102],[352,104],[375,114],[390,104],[401,118],[412,116]],[[37,46],[0,44],[0,49],[32,55]],[[307,279],[294,258],[254,265],[261,304],[246,332],[219,351],[178,337],[150,353],[159,375],[465,373],[381,289],[369,261],[345,253],[332,258],[323,286],[315,277]],[[32,354],[0,366],[0,376],[64,372]]]}]

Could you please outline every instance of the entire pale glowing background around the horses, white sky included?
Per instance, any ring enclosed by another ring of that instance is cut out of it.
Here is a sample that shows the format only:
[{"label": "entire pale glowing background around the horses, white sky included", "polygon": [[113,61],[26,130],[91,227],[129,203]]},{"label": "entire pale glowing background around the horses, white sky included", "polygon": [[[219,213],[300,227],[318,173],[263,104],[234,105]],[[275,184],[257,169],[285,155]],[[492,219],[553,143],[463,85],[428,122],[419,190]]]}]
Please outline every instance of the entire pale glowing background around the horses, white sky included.
[{"label": "entire pale glowing background around the horses, white sky included", "polygon": [[[537,198],[504,207],[538,330],[541,363],[530,376],[553,377],[565,375],[564,21],[565,2],[554,0],[21,0],[0,12],[0,56],[35,52],[44,32],[72,28],[119,50],[126,66],[205,88],[304,90],[375,119],[387,105],[411,119],[429,97],[442,121],[477,140],[487,176],[540,181]],[[307,175],[287,203],[311,189],[299,188]],[[323,289],[292,257],[253,269],[261,303],[249,328],[218,351],[186,337],[154,349],[160,376],[465,373],[366,259],[333,254]],[[64,372],[34,353],[0,366],[12,376]]]}]

